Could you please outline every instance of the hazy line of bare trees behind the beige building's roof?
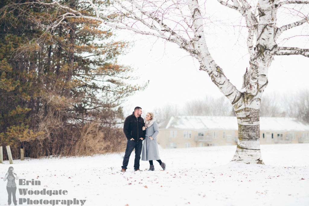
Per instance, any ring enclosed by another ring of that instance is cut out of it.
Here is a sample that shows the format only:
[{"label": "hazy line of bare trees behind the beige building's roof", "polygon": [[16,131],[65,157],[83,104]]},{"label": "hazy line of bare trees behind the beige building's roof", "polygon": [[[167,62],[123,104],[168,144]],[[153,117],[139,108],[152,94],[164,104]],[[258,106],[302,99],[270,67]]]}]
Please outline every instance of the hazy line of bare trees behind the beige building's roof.
[{"label": "hazy line of bare trees behind the beige building's roof", "polygon": [[[183,107],[177,105],[157,107],[154,113],[159,122],[177,115],[235,116],[235,112],[226,98],[211,96],[188,101]],[[295,117],[309,123],[309,90],[296,94],[270,93],[264,95],[263,101],[261,101],[260,116]]]}]

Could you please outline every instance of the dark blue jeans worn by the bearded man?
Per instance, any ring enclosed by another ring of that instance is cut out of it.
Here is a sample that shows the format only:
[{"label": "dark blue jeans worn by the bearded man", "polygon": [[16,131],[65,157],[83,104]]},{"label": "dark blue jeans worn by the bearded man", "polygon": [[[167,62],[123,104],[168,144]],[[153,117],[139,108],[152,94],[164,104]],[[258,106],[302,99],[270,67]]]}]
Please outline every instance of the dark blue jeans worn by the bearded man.
[{"label": "dark blue jeans worn by the bearded man", "polygon": [[125,157],[123,158],[122,169],[127,169],[129,158],[133,149],[135,149],[134,170],[139,169],[139,160],[141,159],[142,153],[142,140],[138,140],[138,142],[135,142],[134,140],[127,141],[127,148],[125,149]]}]

